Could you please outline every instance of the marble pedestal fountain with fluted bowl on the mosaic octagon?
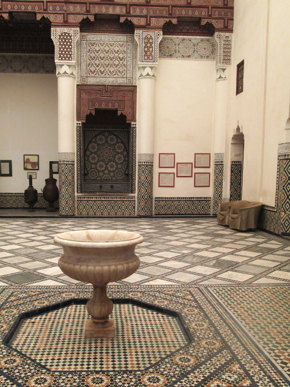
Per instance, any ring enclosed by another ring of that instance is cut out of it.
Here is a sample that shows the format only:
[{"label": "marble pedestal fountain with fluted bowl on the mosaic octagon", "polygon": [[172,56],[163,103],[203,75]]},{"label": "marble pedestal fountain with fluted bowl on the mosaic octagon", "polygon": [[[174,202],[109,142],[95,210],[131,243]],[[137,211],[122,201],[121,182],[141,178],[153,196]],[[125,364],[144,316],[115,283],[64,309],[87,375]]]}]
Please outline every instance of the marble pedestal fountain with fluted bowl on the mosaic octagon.
[{"label": "marble pedestal fountain with fluted bowl on the mosaic octagon", "polygon": [[91,319],[87,320],[85,337],[115,336],[114,320],[109,319],[113,302],[107,297],[106,285],[138,269],[140,260],[134,250],[143,240],[137,233],[121,230],[71,231],[54,238],[63,248],[59,259],[63,273],[93,285],[93,296],[86,304]]}]

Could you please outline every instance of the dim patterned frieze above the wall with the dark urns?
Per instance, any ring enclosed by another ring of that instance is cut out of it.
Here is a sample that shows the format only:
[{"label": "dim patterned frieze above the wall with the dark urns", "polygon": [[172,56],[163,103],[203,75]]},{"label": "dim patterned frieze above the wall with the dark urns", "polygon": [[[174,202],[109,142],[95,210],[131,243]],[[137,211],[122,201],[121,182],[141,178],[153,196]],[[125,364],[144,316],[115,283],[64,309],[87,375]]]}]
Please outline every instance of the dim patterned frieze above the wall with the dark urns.
[{"label": "dim patterned frieze above the wall with the dark urns", "polygon": [[51,55],[0,54],[0,72],[55,74],[54,57]]}]

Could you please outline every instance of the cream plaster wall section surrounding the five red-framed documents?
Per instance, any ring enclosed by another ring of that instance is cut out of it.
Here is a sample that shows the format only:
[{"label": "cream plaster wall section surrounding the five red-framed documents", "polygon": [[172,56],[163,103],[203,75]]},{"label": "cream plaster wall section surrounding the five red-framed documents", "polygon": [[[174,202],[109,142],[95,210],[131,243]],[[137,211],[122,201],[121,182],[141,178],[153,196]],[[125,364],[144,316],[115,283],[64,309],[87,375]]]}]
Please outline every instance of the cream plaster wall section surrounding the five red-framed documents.
[{"label": "cream plaster wall section surrounding the five red-framed documents", "polygon": [[[215,62],[160,59],[156,79],[154,196],[211,196]],[[175,153],[175,163],[193,163],[193,177],[176,168],[158,168],[159,153]],[[194,168],[194,153],[211,153],[211,168]],[[158,187],[159,172],[174,172],[175,187]],[[210,187],[194,187],[194,172],[210,172]]]}]

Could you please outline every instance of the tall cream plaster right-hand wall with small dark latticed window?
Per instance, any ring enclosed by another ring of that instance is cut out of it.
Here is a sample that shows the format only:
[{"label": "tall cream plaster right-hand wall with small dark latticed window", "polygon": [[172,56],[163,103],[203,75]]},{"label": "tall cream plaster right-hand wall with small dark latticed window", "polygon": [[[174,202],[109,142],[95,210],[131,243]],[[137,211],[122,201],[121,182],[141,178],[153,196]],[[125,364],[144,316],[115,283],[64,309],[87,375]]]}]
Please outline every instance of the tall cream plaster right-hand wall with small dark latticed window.
[{"label": "tall cream plaster right-hand wall with small dark latticed window", "polygon": [[[290,96],[289,0],[235,0],[228,138],[245,135],[243,199],[275,204],[277,149],[287,141]],[[245,60],[236,96],[236,65]],[[229,152],[229,148],[226,152]]]}]

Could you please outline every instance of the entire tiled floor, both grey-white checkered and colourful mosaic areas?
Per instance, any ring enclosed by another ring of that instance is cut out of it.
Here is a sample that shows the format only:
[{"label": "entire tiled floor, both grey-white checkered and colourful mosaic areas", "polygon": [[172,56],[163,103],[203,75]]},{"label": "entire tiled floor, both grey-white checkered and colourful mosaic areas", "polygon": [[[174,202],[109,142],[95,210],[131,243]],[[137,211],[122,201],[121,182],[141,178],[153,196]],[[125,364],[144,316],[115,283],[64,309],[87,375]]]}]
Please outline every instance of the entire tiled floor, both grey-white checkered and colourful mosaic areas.
[{"label": "entire tiled floor, both grey-white checkered and colourful mosaic areas", "polygon": [[[0,225],[1,387],[290,386],[287,238],[214,218],[7,217]],[[91,286],[57,265],[53,237],[81,229],[145,238],[137,272],[108,286],[118,301],[113,340],[83,339]]]}]

